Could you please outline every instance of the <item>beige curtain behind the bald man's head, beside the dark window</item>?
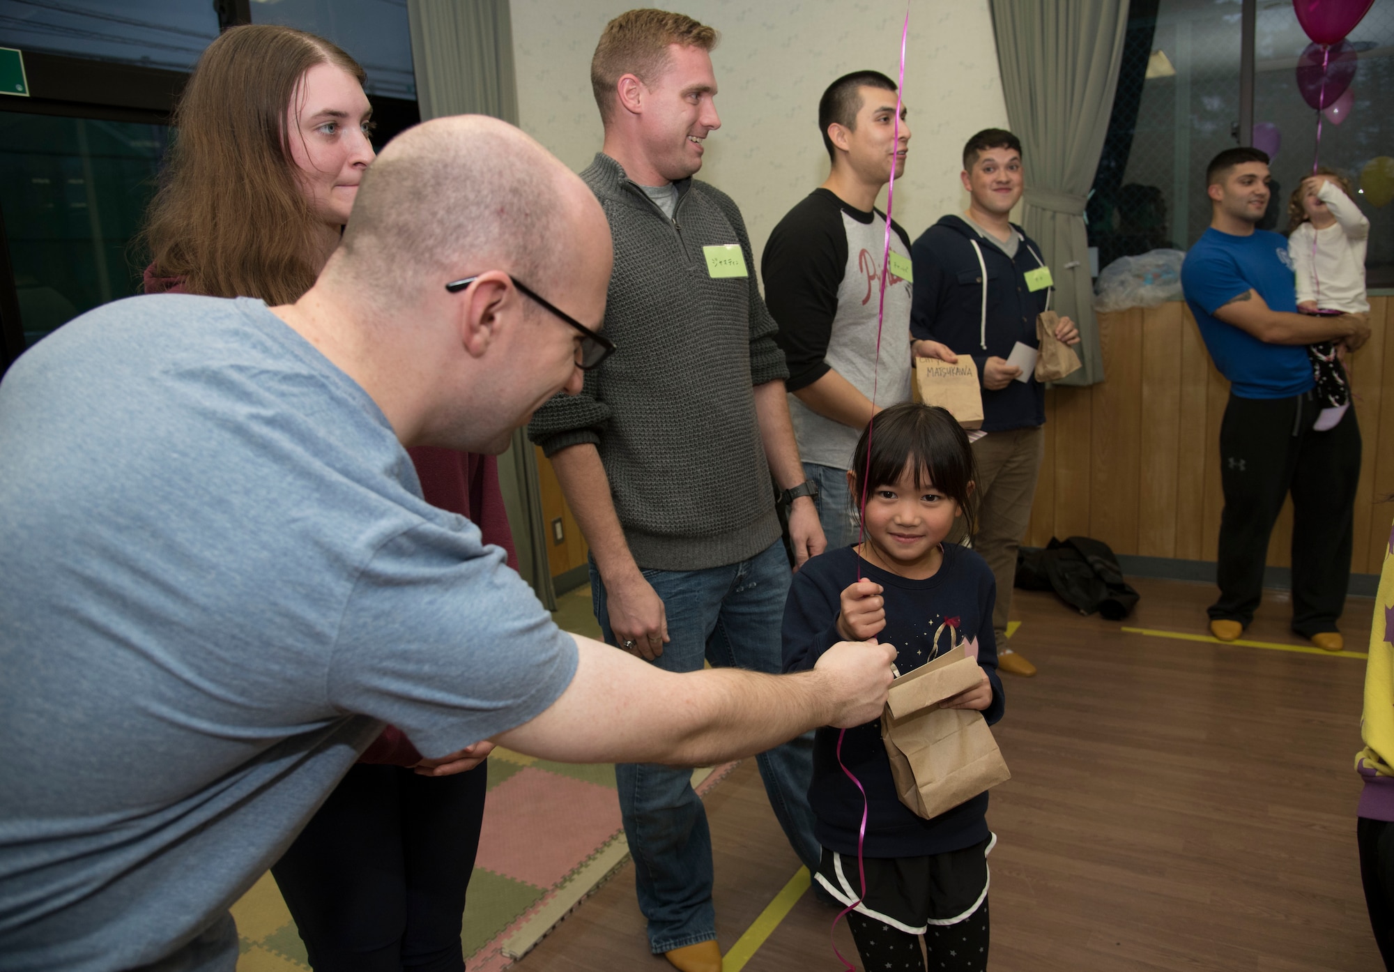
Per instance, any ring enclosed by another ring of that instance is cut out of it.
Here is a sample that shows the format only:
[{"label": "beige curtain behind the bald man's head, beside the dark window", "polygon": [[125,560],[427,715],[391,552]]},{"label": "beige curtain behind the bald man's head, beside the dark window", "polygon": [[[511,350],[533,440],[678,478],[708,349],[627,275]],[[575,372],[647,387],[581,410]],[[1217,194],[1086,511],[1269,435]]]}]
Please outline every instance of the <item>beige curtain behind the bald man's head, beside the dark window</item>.
[{"label": "beige curtain behind the bald man's head, beside the dark window", "polygon": [[[407,0],[407,18],[422,121],[445,114],[492,114],[517,124],[507,0]],[[542,605],[556,611],[537,453],[523,430],[513,434],[513,445],[499,456],[499,488],[519,552],[519,573],[533,584]]]}]

